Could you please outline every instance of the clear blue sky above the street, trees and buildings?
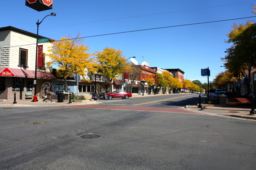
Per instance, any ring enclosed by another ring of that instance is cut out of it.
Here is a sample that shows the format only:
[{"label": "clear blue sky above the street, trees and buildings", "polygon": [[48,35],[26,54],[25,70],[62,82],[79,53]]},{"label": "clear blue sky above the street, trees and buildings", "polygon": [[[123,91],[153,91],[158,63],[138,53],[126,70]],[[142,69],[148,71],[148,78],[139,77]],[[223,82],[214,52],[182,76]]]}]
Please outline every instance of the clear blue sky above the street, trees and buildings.
[{"label": "clear blue sky above the street, trees and buildings", "polygon": [[[25,0],[1,1],[1,27],[14,26],[36,33],[36,22],[51,12],[39,26],[39,35],[59,40],[81,32],[84,45],[92,54],[103,48],[123,51],[126,58],[136,56],[150,67],[184,71],[184,78],[207,83],[201,69],[209,67],[212,81],[224,71],[221,57],[231,44],[227,33],[233,23],[244,23],[253,17],[250,0],[54,0],[53,9],[36,11]],[[211,21],[228,20],[205,24]],[[195,24],[195,25],[188,25]],[[188,25],[188,26],[181,26]],[[160,28],[136,31],[151,28]],[[136,32],[129,32],[136,31]],[[120,33],[128,32],[128,33]],[[95,36],[118,33],[112,35]],[[90,37],[95,36],[95,37]]]}]

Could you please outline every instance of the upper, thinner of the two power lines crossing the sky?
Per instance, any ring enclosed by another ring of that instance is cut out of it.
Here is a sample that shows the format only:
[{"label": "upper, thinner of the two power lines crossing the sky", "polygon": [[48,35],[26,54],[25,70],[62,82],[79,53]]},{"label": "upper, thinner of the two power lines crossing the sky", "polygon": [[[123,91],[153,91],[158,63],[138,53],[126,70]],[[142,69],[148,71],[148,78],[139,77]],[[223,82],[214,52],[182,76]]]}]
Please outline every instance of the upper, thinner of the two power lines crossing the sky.
[{"label": "upper, thinner of the two power lines crossing the sky", "polygon": [[[155,13],[155,14],[138,15],[138,16],[132,16],[132,17],[105,19],[105,20],[100,20],[100,21],[91,21],[91,22],[84,22],[84,23],[79,23],[79,24],[70,24],[70,25],[65,25],[65,26],[75,26],[75,25],[81,25],[81,24],[89,24],[89,23],[95,23],[95,22],[125,19],[125,18],[136,18],[136,17],[144,17],[144,16],[150,16],[150,15],[160,15],[160,14],[174,13],[174,12],[184,12],[184,11],[194,11],[194,10],[202,10],[202,9],[209,9],[209,8],[218,8],[218,7],[223,7],[223,6],[239,5],[239,4],[246,4],[246,3],[252,3],[252,2],[256,2],[256,1],[244,2],[244,3],[238,3],[238,4],[229,4],[229,5],[220,5],[220,6],[213,6],[213,7],[205,7],[205,8],[197,8],[197,9],[189,9],[189,10],[181,10],[181,11],[171,11],[171,12],[162,12],[162,13]],[[41,28],[40,30],[49,29],[49,28],[58,28],[58,27],[64,27],[64,26],[54,26],[54,27],[48,27],[48,28]],[[28,31],[34,31],[34,30],[28,30]]]}]

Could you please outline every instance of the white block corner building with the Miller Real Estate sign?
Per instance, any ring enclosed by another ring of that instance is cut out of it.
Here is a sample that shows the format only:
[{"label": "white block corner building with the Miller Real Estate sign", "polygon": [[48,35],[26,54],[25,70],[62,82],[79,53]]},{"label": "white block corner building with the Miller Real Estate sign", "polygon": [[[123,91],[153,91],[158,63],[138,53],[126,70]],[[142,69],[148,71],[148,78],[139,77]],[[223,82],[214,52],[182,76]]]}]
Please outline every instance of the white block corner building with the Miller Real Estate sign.
[{"label": "white block corner building with the Miller Real Estate sign", "polygon": [[[38,35],[38,38],[46,38]],[[36,94],[40,94],[44,82],[56,79],[52,75],[51,59],[43,57],[52,43],[38,44]],[[40,53],[40,54],[39,54]],[[41,57],[41,58],[39,58]],[[36,66],[36,34],[12,26],[0,28],[0,99],[25,99],[26,93],[34,94]],[[40,66],[38,65],[40,64]]]}]

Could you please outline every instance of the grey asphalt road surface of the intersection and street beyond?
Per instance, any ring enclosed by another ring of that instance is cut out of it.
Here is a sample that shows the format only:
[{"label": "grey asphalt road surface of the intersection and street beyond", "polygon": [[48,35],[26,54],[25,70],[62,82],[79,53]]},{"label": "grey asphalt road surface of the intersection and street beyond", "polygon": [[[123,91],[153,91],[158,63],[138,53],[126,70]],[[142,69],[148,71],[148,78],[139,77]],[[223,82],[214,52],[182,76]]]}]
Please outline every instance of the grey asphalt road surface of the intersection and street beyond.
[{"label": "grey asphalt road surface of the intersection and street beyond", "polygon": [[[183,105],[181,99],[172,99],[177,100],[176,104],[164,98],[142,105],[135,105],[145,103],[142,98],[118,101],[121,104],[114,102],[116,106],[122,107],[125,102],[141,110],[0,108],[0,169],[251,170],[256,167],[254,121],[142,108],[161,104],[177,109]],[[193,100],[193,97],[183,99]],[[100,137],[84,139],[83,135]]]}]

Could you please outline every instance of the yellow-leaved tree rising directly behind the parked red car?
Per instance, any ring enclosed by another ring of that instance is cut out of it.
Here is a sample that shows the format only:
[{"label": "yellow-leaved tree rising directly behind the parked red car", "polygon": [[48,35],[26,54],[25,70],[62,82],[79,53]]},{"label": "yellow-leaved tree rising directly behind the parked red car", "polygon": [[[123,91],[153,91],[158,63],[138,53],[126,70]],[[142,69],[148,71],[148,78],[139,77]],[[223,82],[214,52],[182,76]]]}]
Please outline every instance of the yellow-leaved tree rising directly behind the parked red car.
[{"label": "yellow-leaved tree rising directly behind the parked red car", "polygon": [[125,71],[129,70],[130,65],[127,63],[123,51],[115,48],[104,48],[103,51],[95,51],[94,56],[98,60],[98,69],[110,83],[110,92],[112,91],[112,81],[120,76]]}]

